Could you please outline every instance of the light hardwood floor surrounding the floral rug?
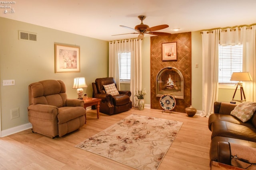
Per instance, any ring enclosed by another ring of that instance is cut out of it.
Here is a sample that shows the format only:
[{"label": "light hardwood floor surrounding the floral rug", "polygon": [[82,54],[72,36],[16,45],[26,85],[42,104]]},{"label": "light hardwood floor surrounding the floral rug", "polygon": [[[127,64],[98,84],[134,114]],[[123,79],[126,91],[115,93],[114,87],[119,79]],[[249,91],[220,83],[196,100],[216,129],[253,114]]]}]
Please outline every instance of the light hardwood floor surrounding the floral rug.
[{"label": "light hardwood floor surrounding the floral rug", "polygon": [[182,121],[172,146],[158,170],[210,170],[209,149],[211,132],[208,118],[186,113],[163,112],[157,109],[140,111],[132,108],[117,115],[87,110],[86,124],[64,137],[51,139],[31,129],[0,138],[0,169],[6,170],[133,170],[129,166],[74,147],[92,135],[106,129],[131,114],[148,115]]}]

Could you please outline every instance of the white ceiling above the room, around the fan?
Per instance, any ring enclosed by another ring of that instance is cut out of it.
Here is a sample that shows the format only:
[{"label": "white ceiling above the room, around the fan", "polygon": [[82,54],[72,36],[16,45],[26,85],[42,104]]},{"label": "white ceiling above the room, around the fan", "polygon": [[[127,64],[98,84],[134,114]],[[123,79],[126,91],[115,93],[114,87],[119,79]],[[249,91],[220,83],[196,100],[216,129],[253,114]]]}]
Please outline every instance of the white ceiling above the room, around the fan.
[{"label": "white ceiling above the room, around the fan", "polygon": [[[134,28],[135,25],[140,24],[137,18],[139,15],[147,16],[143,23],[150,27],[168,24],[168,28],[159,30],[168,33],[256,23],[256,0],[15,0],[14,2],[15,4],[7,5],[14,8],[15,13],[4,14],[4,8],[0,8],[0,17],[106,41],[137,37],[137,34],[112,35],[133,33],[134,31],[119,25]],[[6,10],[10,11],[8,8]],[[173,28],[180,30],[175,32]]]}]

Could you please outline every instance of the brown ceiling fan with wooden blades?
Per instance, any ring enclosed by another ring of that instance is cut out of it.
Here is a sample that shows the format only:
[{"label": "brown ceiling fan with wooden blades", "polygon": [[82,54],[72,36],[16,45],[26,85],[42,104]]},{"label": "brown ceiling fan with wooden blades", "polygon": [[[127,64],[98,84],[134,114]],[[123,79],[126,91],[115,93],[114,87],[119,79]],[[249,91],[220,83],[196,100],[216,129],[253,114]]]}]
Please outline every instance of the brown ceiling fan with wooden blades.
[{"label": "brown ceiling fan with wooden blades", "polygon": [[[154,26],[154,27],[149,27],[148,25],[145,25],[142,22],[146,18],[146,16],[138,16],[138,18],[141,20],[141,23],[139,25],[136,25],[134,27],[134,29],[130,28],[130,27],[123,26],[123,25],[120,25],[120,27],[132,29],[132,30],[136,31],[136,33],[125,33],[125,34],[139,34],[138,39],[142,39],[144,37],[144,34],[171,35],[171,33],[155,32],[157,30],[167,28],[167,27],[169,27],[169,25],[164,24],[164,25],[157,25],[157,26]],[[117,35],[125,35],[125,34],[117,34]],[[114,35],[112,35],[112,36],[114,36]]]}]

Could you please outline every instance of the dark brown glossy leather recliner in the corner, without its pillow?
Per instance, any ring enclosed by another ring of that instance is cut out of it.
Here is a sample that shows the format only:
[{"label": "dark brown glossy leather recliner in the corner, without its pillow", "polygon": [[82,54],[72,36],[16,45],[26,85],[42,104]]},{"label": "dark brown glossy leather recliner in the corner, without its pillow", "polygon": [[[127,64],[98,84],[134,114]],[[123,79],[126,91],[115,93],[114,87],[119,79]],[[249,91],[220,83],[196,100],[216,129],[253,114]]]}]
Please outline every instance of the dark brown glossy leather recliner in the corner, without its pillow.
[{"label": "dark brown glossy leather recliner in the corner, without its pillow", "polygon": [[101,99],[100,112],[108,115],[128,111],[132,108],[132,102],[130,100],[130,91],[118,91],[119,94],[116,96],[112,96],[111,94],[106,93],[103,85],[113,83],[116,86],[116,81],[113,77],[96,78],[95,82],[92,82],[92,97]]}]

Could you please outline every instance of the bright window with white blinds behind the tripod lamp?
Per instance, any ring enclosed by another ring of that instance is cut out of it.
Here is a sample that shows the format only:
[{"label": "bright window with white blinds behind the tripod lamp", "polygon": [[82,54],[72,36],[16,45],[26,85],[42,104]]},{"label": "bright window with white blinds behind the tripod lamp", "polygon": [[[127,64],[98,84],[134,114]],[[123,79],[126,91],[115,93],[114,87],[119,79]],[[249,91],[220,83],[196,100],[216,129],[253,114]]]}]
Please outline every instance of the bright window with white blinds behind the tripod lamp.
[{"label": "bright window with white blinds behind the tripod lamp", "polygon": [[232,84],[232,72],[242,72],[243,45],[219,45],[219,83]]}]

